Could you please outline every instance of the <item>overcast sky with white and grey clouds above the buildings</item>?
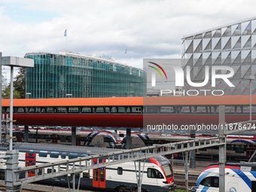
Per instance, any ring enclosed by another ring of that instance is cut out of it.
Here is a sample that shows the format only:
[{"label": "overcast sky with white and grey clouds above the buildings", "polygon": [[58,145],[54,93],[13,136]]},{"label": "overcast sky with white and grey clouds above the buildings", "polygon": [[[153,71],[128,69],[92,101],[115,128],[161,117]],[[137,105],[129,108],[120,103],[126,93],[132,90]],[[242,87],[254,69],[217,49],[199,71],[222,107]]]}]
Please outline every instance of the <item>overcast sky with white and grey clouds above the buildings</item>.
[{"label": "overcast sky with white and grey clouds above the buildings", "polygon": [[142,68],[143,58],[180,58],[184,35],[255,17],[255,8],[252,0],[1,0],[0,51],[59,53],[67,29],[68,51]]}]

